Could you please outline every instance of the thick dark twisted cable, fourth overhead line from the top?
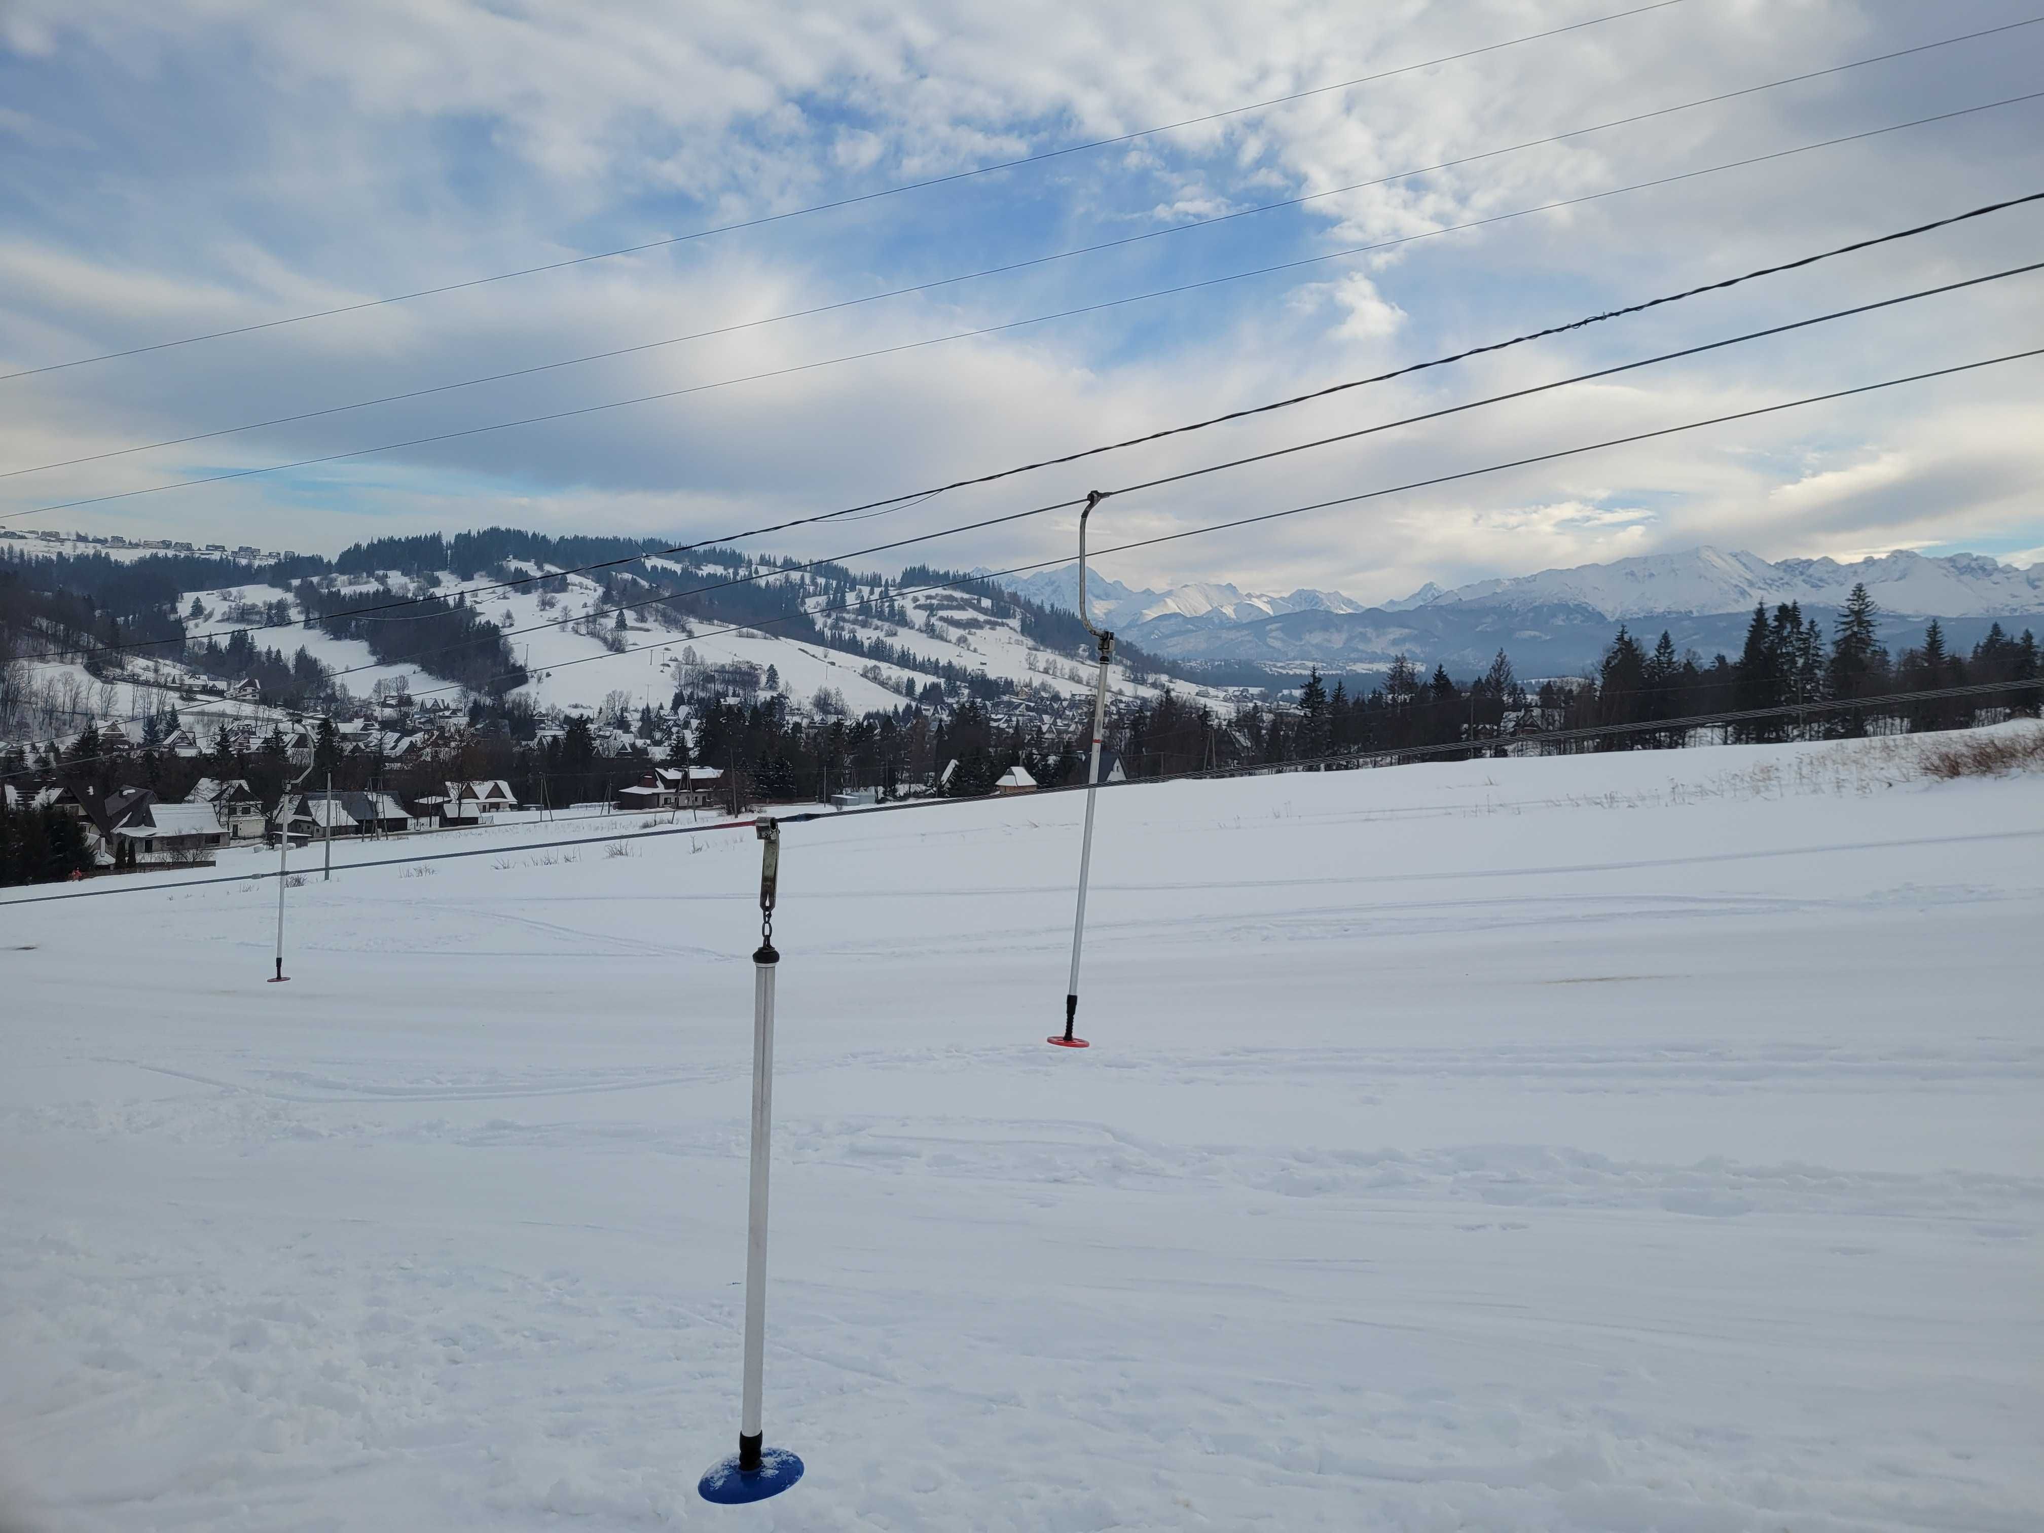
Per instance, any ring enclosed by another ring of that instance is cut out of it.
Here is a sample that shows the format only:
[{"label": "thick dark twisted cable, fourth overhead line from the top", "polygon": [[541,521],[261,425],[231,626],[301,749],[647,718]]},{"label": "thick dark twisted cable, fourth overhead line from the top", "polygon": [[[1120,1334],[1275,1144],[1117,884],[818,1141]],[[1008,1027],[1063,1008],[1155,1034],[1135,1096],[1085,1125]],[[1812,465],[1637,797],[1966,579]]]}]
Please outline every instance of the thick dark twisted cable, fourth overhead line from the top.
[{"label": "thick dark twisted cable, fourth overhead line from the top", "polygon": [[[1917,235],[1925,235],[1925,233],[1932,233],[1936,229],[1946,229],[1946,227],[1952,227],[1952,225],[1958,225],[1958,223],[1966,223],[1970,219],[1983,219],[1987,215],[2003,213],[2007,208],[2024,206],[2028,202],[2044,202],[2044,192],[2030,192],[2026,196],[2015,196],[2015,198],[2007,198],[2007,200],[2001,200],[2001,202],[1989,202],[1985,206],[1968,208],[1966,213],[1954,213],[1954,215],[1944,217],[1944,219],[1934,219],[1930,223],[1911,225],[1909,229],[1895,229],[1895,231],[1885,233],[1885,235],[1872,235],[1868,239],[1856,239],[1856,241],[1846,243],[1846,245],[1833,245],[1831,249],[1823,249],[1823,251],[1817,251],[1813,256],[1799,256],[1799,258],[1788,260],[1788,262],[1776,262],[1772,266],[1760,266],[1760,268],[1756,268],[1752,272],[1744,272],[1739,276],[1727,276],[1727,278],[1719,278],[1715,282],[1703,282],[1699,286],[1684,288],[1680,292],[1670,292],[1670,294],[1664,294],[1660,298],[1645,298],[1641,303],[1623,305],[1619,309],[1607,309],[1607,311],[1596,313],[1596,315],[1584,315],[1580,319],[1570,319],[1570,321],[1564,321],[1564,323],[1558,323],[1558,325],[1547,325],[1543,329],[1525,331],[1523,335],[1513,335],[1513,337],[1502,339],[1502,341],[1488,341],[1484,345],[1472,345],[1468,350],[1453,352],[1449,356],[1429,358],[1425,362],[1408,362],[1408,364],[1404,364],[1400,368],[1392,368],[1390,372],[1376,372],[1376,374],[1369,374],[1365,378],[1349,378],[1345,382],[1327,384],[1322,388],[1314,388],[1314,390],[1308,390],[1304,394],[1290,394],[1286,399],[1269,401],[1265,405],[1251,405],[1247,409],[1226,411],[1222,415],[1212,415],[1212,417],[1206,417],[1206,419],[1200,419],[1200,421],[1190,421],[1186,425],[1171,425],[1171,427],[1163,427],[1159,431],[1147,431],[1143,435],[1124,437],[1120,442],[1110,442],[1110,444],[1104,444],[1104,446],[1098,446],[1098,448],[1083,448],[1079,452],[1069,452],[1069,454],[1063,454],[1063,456],[1057,456],[1057,458],[1042,458],[1038,462],[1018,464],[1014,468],[1000,468],[1000,470],[993,470],[993,472],[987,472],[987,474],[975,474],[975,476],[969,476],[969,478],[957,478],[957,480],[950,480],[946,484],[938,484],[934,489],[908,491],[903,495],[891,495],[891,497],[885,497],[881,501],[865,501],[861,505],[842,507],[838,511],[822,511],[822,513],[807,515],[807,517],[795,517],[795,519],[789,519],[789,521],[771,523],[771,525],[764,525],[764,527],[750,527],[746,531],[724,533],[719,538],[697,540],[697,542],[691,542],[691,544],[675,544],[670,548],[646,550],[646,552],[630,554],[630,556],[621,556],[621,558],[593,560],[589,564],[574,564],[574,566],[568,566],[568,568],[550,570],[546,574],[521,574],[521,576],[513,576],[509,580],[491,580],[486,585],[462,587],[458,591],[433,593],[429,597],[407,597],[407,599],[401,599],[401,601],[378,603],[374,607],[364,607],[360,611],[354,611],[354,613],[350,613],[350,617],[354,621],[390,621],[386,617],[376,617],[376,613],[390,613],[390,611],[415,609],[415,607],[421,607],[421,605],[427,605],[427,603],[433,603],[433,601],[452,601],[452,599],[458,599],[458,597],[489,595],[491,591],[511,591],[511,589],[517,589],[517,587],[533,585],[533,583],[540,583],[540,580],[552,580],[552,578],[560,578],[560,576],[568,576],[568,574],[589,574],[591,570],[607,570],[607,568],[619,568],[619,566],[625,566],[625,564],[638,564],[640,560],[646,560],[646,558],[672,558],[677,554],[693,554],[693,552],[699,552],[703,548],[715,548],[715,546],[740,542],[740,540],[746,540],[746,538],[760,538],[760,536],[775,533],[775,531],[789,531],[793,527],[807,527],[807,525],[816,525],[816,523],[822,523],[822,521],[836,521],[836,519],[842,519],[842,517],[848,517],[848,515],[854,515],[854,513],[861,513],[861,511],[873,511],[875,507],[895,507],[895,505],[901,505],[901,503],[924,501],[924,499],[930,499],[932,495],[942,495],[942,493],[948,493],[948,491],[969,489],[969,486],[977,486],[977,484],[991,484],[995,480],[1014,478],[1018,474],[1028,474],[1028,472],[1034,472],[1034,470],[1040,470],[1040,468],[1055,468],[1055,466],[1063,466],[1063,464],[1073,464],[1073,462],[1081,462],[1085,458],[1098,458],[1102,454],[1120,452],[1124,448],[1147,446],[1151,442],[1163,442],[1163,439],[1173,437],[1173,435],[1186,435],[1186,433],[1192,433],[1192,431],[1204,431],[1204,429],[1214,427],[1214,425],[1226,425],[1230,421],[1243,421],[1243,419],[1249,419],[1249,417],[1255,417],[1255,415],[1267,415],[1267,413],[1273,413],[1273,411],[1292,409],[1296,405],[1306,405],[1306,403],[1312,403],[1312,401],[1318,401],[1318,399],[1329,399],[1333,394],[1341,394],[1341,392],[1347,392],[1347,390],[1353,390],[1353,388],[1363,388],[1363,386],[1369,386],[1369,384],[1388,382],[1392,378],[1400,378],[1400,376],[1414,374],[1414,372],[1425,372],[1429,368],[1443,368],[1443,366],[1449,366],[1453,362],[1464,362],[1468,358],[1484,356],[1484,354],[1490,354],[1490,352],[1502,352],[1506,347],[1525,345],[1529,341],[1547,339],[1551,335],[1566,335],[1568,331],[1584,329],[1588,325],[1600,325],[1600,323],[1611,321],[1611,319],[1623,319],[1627,315],[1639,315],[1639,313],[1645,313],[1650,309],[1660,309],[1664,305],[1682,303],[1684,298],[1697,298],[1697,296],[1709,294],[1709,292],[1723,292],[1725,288],[1735,288],[1741,282],[1754,282],[1758,278],[1778,276],[1782,272],[1795,272],[1795,270],[1801,270],[1801,268],[1807,268],[1807,266],[1815,266],[1817,262],[1833,260],[1838,256],[1850,256],[1850,253],[1856,253],[1856,251],[1874,249],[1876,245],[1889,245],[1889,243],[1895,243],[1899,239],[1913,239]],[[200,634],[196,638],[223,640],[223,638],[233,638],[237,634],[264,634],[264,632],[270,632],[270,630],[276,630],[276,628],[296,628],[296,625],[298,625],[298,619],[241,623],[241,625],[235,625],[235,628],[211,630],[211,632]],[[184,644],[184,642],[188,642],[188,640],[186,638],[129,640],[129,642],[123,642],[123,644],[98,646],[94,652],[96,654],[114,654],[114,652],[161,648],[161,646],[168,646],[168,644]],[[55,660],[55,658],[69,656],[74,652],[76,650],[47,650],[43,654],[29,654],[29,656],[16,656],[16,658],[22,658],[22,660]]]}]

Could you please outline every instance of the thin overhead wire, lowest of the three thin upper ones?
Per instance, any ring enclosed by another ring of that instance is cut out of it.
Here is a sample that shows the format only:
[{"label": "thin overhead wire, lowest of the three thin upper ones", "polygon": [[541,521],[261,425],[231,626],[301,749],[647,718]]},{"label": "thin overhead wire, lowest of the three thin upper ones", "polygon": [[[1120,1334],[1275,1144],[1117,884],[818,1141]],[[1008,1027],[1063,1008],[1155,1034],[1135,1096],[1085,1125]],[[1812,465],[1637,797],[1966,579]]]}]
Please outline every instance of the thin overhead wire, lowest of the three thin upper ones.
[{"label": "thin overhead wire, lowest of the three thin upper ones", "polygon": [[1008,321],[1004,325],[983,325],[979,329],[955,331],[950,335],[934,335],[934,337],[922,339],[922,341],[903,341],[899,345],[883,345],[883,347],[875,347],[875,350],[869,350],[869,352],[852,352],[852,354],[836,356],[836,358],[822,358],[818,362],[801,362],[801,364],[787,366],[787,368],[771,368],[766,372],[752,372],[752,374],[744,374],[744,376],[738,376],[738,378],[722,378],[722,380],[707,382],[707,384],[689,384],[685,388],[662,388],[662,390],[652,392],[652,394],[634,394],[630,399],[613,399],[613,401],[605,401],[601,405],[580,405],[580,407],[564,409],[564,411],[548,411],[544,415],[527,415],[527,417],[519,417],[519,419],[513,419],[513,421],[493,421],[489,425],[470,425],[470,427],[462,427],[458,431],[435,431],[431,435],[407,437],[403,442],[382,442],[382,444],[378,444],[374,448],[354,448],[350,452],[329,452],[329,454],[319,454],[315,458],[294,458],[290,462],[264,464],[260,468],[235,468],[235,470],[229,470],[225,474],[202,474],[198,478],[180,478],[180,480],[170,480],[166,484],[147,484],[147,486],[135,489],[135,491],[117,491],[112,495],[88,495],[88,497],[80,497],[80,499],[72,499],[72,501],[51,501],[47,505],[29,507],[27,511],[8,511],[8,513],[0,515],[0,521],[14,521],[18,517],[45,515],[49,511],[67,511],[67,509],[76,509],[76,507],[84,507],[84,505],[106,505],[110,501],[131,501],[131,499],[141,497],[141,495],[161,495],[164,491],[182,491],[182,489],[194,489],[194,486],[200,486],[200,484],[223,484],[223,482],[239,480],[239,478],[258,478],[258,476],[264,476],[264,474],[280,474],[280,472],[286,472],[286,470],[292,470],[292,468],[313,468],[313,466],[319,466],[319,464],[347,462],[347,460],[354,460],[354,458],[372,458],[372,456],[378,456],[378,454],[384,454],[384,452],[401,452],[405,448],[423,448],[423,446],[433,446],[433,444],[439,444],[439,442],[458,442],[458,439],[464,439],[464,437],[489,435],[493,431],[515,431],[515,429],[523,429],[527,425],[548,425],[552,421],[570,421],[570,419],[578,419],[578,417],[585,417],[585,415],[599,415],[599,413],[613,411],[613,409],[625,409],[628,405],[652,405],[652,403],[666,401],[666,399],[681,399],[685,394],[701,394],[701,392],[709,392],[709,390],[715,390],[715,388],[730,388],[734,384],[762,382],[762,380],[769,380],[769,378],[787,378],[791,374],[814,372],[818,368],[834,368],[834,366],[842,366],[846,362],[867,362],[867,360],[881,358],[881,356],[897,356],[901,352],[918,352],[918,350],[924,350],[924,347],[930,347],[930,345],[944,345],[948,341],[965,341],[965,339],[973,339],[973,337],[979,337],[979,335],[997,335],[997,333],[1004,333],[1004,331],[1022,329],[1026,325],[1042,325],[1042,323],[1057,321],[1057,319],[1075,319],[1075,317],[1081,317],[1081,315],[1096,315],[1096,313],[1102,313],[1106,309],[1118,309],[1118,307],[1124,307],[1124,305],[1130,305],[1130,303],[1145,303],[1149,298],[1169,298],[1169,296],[1175,296],[1175,294],[1181,294],[1181,292],[1198,292],[1198,290],[1214,288],[1214,286],[1220,286],[1220,284],[1226,284],[1226,282],[1241,282],[1241,280],[1253,278],[1253,276],[1269,276],[1273,272],[1292,272],[1292,270],[1300,270],[1304,266],[1318,266],[1322,262],[1349,260],[1353,256],[1367,256],[1367,253],[1380,251],[1380,249],[1394,249],[1398,245],[1410,245],[1410,243],[1416,243],[1421,239],[1437,239],[1441,235],[1466,233],[1470,229],[1484,229],[1484,227],[1490,227],[1490,225],[1496,225],[1496,223],[1506,223],[1511,219],[1525,219],[1525,217],[1535,215],[1535,213],[1555,213],[1560,208],[1582,206],[1586,202],[1598,202],[1602,198],[1623,196],[1627,192],[1643,192],[1643,190],[1652,190],[1656,186],[1672,186],[1676,182],[1694,180],[1699,176],[1715,176],[1715,174],[1725,172],[1725,170],[1744,170],[1748,166],[1760,166],[1760,164],[1768,164],[1768,161],[1774,161],[1774,159],[1786,159],[1791,155],[1811,153],[1815,149],[1831,149],[1831,147],[1838,147],[1838,145],[1844,145],[1844,143],[1858,143],[1862,139],[1876,139],[1876,137],[1880,137],[1885,133],[1901,133],[1905,129],[1927,127],[1932,123],[1948,123],[1948,121],[1954,121],[1954,119],[1960,119],[1960,117],[1972,117],[1975,112],[1989,112],[1989,110],[1995,110],[1995,108],[2001,108],[2001,106],[2017,106],[2022,102],[2030,102],[2030,100],[2038,100],[2038,98],[2044,98],[2044,90],[2032,90],[2032,92],[2026,92],[2022,96],[2005,96],[2001,100],[1981,102],[1979,106],[1960,106],[1960,108],[1950,110],[1950,112],[1934,112],[1932,117],[1917,117],[1917,119],[1911,119],[1907,123],[1891,123],[1887,127],[1864,129],[1860,133],[1846,133],[1846,135],[1833,137],[1833,139],[1819,139],[1817,143],[1803,143],[1803,145],[1797,145],[1793,149],[1774,149],[1774,151],[1764,153],[1764,155],[1748,155],[1746,159],[1727,159],[1727,161],[1723,161],[1719,166],[1705,166],[1701,170],[1684,170],[1684,172],[1676,172],[1672,176],[1658,176],[1654,180],[1633,182],[1629,186],[1613,186],[1613,188],[1607,188],[1602,192],[1586,192],[1582,196],[1570,196],[1570,198],[1560,198],[1560,200],[1553,200],[1553,202],[1541,202],[1541,204],[1531,206],[1531,208],[1517,208],[1513,213],[1496,213],[1496,215],[1490,215],[1486,219],[1472,219],[1468,223],[1445,225],[1441,229],[1429,229],[1429,231],[1419,233],[1419,235],[1400,235],[1398,239],[1380,239],[1380,241],[1369,243],[1369,245],[1351,245],[1347,249],[1327,251],[1327,253],[1320,253],[1320,256],[1306,256],[1306,258],[1292,260],[1292,262],[1278,262],[1273,266],[1257,266],[1257,268],[1251,268],[1251,270],[1245,270],[1245,272],[1230,272],[1226,276],[1202,278],[1198,282],[1181,282],[1181,284],[1169,286],[1169,288],[1153,288],[1151,292],[1134,292],[1134,294],[1128,294],[1124,298],[1108,298],[1108,300],[1102,300],[1102,303],[1081,305],[1077,309],[1061,309],[1061,311],[1049,313],[1049,315],[1034,315],[1030,319],[1014,319],[1014,321]]}]

